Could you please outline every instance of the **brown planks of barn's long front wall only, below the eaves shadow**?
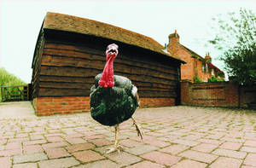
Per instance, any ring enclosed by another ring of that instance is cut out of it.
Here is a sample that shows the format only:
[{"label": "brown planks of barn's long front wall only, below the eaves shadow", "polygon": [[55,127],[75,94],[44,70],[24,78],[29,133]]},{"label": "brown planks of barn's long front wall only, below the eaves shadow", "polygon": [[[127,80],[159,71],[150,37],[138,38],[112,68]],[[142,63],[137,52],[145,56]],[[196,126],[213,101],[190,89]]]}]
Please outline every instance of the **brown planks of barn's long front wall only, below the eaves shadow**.
[{"label": "brown planks of barn's long front wall only, below the eaves shadow", "polygon": [[[40,64],[38,96],[89,96],[94,78],[102,72],[105,61],[103,50],[46,41]],[[114,61],[114,74],[130,78],[141,97],[175,98],[178,66],[121,53]]]}]

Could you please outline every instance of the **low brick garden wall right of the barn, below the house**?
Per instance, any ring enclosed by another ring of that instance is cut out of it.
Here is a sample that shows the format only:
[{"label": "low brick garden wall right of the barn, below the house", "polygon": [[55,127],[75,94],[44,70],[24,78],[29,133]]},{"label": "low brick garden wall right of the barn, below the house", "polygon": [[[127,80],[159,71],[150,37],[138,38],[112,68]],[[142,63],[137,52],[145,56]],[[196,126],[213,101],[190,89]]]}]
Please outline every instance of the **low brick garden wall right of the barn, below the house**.
[{"label": "low brick garden wall right of the barn, below the house", "polygon": [[213,107],[256,107],[256,85],[232,82],[191,84],[181,82],[181,104]]}]

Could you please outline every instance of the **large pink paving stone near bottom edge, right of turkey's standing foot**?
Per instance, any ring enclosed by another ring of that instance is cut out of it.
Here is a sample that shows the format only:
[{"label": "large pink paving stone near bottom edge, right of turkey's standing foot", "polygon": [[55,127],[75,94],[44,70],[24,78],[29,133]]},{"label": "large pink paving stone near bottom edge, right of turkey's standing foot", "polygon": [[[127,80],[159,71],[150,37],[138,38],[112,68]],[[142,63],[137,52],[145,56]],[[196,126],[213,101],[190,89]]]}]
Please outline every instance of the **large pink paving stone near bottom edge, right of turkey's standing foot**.
[{"label": "large pink paving stone near bottom edge, right of turkey's standing foot", "polygon": [[151,152],[147,154],[141,155],[144,159],[152,160],[161,165],[174,165],[176,164],[181,158],[177,156],[173,156],[171,154],[164,154],[160,152]]}]

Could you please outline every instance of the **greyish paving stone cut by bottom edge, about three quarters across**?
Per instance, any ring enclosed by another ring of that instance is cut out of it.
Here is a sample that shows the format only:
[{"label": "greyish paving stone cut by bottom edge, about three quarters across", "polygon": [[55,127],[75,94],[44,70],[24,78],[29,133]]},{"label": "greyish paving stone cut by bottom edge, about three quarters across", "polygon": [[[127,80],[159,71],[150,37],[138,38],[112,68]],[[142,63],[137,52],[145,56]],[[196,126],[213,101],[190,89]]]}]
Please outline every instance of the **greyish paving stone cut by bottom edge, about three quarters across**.
[{"label": "greyish paving stone cut by bottom edge, about three quarters across", "polygon": [[205,168],[207,164],[191,160],[191,159],[183,159],[178,162],[176,165],[173,165],[171,168]]}]

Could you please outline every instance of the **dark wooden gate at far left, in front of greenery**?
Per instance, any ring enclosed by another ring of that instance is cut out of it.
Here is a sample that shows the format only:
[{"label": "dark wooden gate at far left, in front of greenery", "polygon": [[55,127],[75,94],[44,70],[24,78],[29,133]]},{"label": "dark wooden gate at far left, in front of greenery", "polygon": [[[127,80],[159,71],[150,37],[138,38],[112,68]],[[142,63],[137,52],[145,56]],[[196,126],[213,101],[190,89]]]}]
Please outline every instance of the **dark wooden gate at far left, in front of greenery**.
[{"label": "dark wooden gate at far left, in front of greenery", "polygon": [[29,101],[29,84],[18,86],[2,86],[2,101]]}]

